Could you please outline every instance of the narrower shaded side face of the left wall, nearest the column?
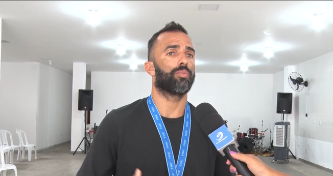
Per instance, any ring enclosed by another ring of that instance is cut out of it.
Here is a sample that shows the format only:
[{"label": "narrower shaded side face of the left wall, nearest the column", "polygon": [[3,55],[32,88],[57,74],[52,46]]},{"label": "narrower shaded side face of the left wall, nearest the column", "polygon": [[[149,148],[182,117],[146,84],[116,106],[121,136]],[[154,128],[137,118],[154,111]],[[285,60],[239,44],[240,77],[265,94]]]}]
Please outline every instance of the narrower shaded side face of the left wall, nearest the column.
[{"label": "narrower shaded side face of the left wall, nearest the column", "polygon": [[70,140],[72,75],[40,64],[37,148]]}]

